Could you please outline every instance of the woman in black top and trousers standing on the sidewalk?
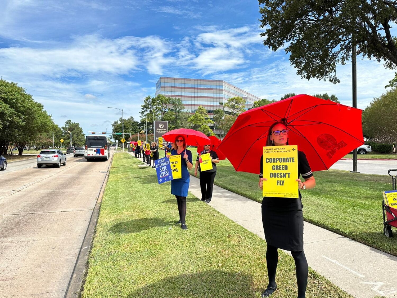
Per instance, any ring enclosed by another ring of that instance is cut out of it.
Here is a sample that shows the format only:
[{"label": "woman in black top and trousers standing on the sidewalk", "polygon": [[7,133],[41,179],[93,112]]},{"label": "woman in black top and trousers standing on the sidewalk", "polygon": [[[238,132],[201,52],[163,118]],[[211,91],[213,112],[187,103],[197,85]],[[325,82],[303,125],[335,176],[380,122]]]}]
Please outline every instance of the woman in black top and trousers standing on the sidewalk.
[{"label": "woman in black top and trousers standing on the sidewalk", "polygon": [[201,171],[198,161],[200,155],[197,155],[195,164],[195,176],[197,176],[197,169],[200,172],[201,201],[205,201],[207,204],[210,203],[212,199],[212,187],[214,186],[216,175],[216,164],[219,163],[218,155],[215,151],[210,150],[210,147],[211,145],[204,145],[204,150],[200,152],[200,155],[210,153],[212,170]]}]

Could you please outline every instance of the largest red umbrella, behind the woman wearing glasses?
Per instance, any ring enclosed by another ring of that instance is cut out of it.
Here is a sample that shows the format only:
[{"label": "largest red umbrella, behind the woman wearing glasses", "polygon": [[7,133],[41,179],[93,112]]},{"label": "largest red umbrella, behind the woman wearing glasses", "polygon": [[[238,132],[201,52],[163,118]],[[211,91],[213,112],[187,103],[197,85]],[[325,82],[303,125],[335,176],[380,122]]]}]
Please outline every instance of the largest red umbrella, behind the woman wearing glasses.
[{"label": "largest red umbrella, behind the woman wearing glasses", "polygon": [[[288,140],[306,154],[312,171],[327,170],[364,143],[362,110],[310,95],[296,95],[240,114],[218,149],[236,171],[259,174],[269,127],[287,125]],[[236,144],[246,152],[235,149]]]}]

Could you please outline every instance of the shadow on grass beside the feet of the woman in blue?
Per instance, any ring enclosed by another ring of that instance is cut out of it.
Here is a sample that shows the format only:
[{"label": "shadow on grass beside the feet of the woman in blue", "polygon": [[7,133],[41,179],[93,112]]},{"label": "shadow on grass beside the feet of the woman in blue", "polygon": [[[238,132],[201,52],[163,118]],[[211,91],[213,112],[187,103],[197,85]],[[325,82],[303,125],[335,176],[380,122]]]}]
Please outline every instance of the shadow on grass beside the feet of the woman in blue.
[{"label": "shadow on grass beside the feet of the woman in blue", "polygon": [[123,221],[117,223],[109,229],[111,233],[137,233],[147,230],[154,226],[169,226],[173,224],[171,221],[164,221],[158,217],[132,219],[131,221]]}]

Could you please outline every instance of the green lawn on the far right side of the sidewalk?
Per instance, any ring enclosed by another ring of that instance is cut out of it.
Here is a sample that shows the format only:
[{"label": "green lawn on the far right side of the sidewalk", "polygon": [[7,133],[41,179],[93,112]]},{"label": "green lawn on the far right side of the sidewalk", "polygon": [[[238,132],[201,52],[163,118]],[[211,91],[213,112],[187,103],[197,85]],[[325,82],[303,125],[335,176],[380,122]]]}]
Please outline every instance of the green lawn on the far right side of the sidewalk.
[{"label": "green lawn on the far right side of the sidewalk", "polygon": [[[392,189],[390,176],[329,170],[314,172],[314,178],[316,188],[301,192],[305,221],[397,255],[397,238],[383,233],[382,191]],[[235,172],[225,160],[218,164],[214,184],[262,202],[258,182],[258,175]]]}]

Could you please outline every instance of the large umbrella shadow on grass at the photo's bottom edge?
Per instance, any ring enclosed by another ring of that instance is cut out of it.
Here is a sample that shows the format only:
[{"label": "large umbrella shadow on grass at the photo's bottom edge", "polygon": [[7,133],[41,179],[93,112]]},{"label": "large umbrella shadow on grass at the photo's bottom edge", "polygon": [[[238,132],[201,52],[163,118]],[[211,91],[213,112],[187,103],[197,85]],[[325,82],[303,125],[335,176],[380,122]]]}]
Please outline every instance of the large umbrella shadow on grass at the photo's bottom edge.
[{"label": "large umbrella shadow on grass at the photo's bottom edge", "polygon": [[254,297],[254,294],[250,275],[209,270],[167,277],[135,290],[127,297]]}]

